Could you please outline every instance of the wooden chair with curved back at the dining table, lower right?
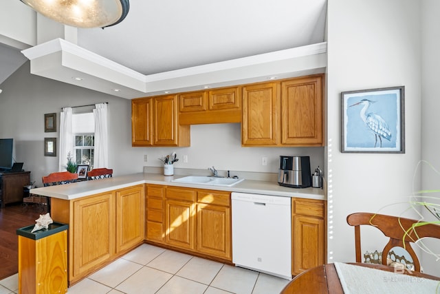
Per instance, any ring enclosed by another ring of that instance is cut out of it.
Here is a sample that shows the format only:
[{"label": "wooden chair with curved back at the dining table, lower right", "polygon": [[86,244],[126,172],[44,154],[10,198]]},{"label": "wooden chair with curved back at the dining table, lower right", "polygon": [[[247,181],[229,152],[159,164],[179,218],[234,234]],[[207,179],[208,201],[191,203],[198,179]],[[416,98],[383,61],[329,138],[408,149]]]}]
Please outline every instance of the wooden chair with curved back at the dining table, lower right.
[{"label": "wooden chair with curved back at the dining table, lower right", "polygon": [[418,220],[411,220],[409,218],[360,212],[352,213],[347,216],[347,222],[349,225],[355,227],[356,262],[362,262],[360,248],[361,225],[370,225],[376,227],[377,229],[380,229],[380,231],[382,231],[386,237],[390,238],[382,251],[382,264],[387,264],[386,259],[388,257],[388,253],[391,249],[393,249],[393,247],[402,247],[410,254],[414,265],[414,271],[420,271],[420,262],[410,243],[426,237],[440,239],[440,225],[418,225]]}]

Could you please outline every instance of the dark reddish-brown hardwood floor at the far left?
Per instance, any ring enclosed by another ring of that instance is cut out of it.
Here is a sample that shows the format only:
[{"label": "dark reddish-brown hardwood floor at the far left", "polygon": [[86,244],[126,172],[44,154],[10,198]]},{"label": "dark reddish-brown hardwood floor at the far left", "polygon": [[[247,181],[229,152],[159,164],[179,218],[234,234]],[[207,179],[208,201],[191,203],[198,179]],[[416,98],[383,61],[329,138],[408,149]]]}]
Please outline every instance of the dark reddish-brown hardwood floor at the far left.
[{"label": "dark reddish-brown hardwood floor at the far left", "polygon": [[0,209],[0,280],[18,273],[19,238],[17,229],[35,224],[40,214],[46,213],[46,208],[36,204],[6,204]]}]

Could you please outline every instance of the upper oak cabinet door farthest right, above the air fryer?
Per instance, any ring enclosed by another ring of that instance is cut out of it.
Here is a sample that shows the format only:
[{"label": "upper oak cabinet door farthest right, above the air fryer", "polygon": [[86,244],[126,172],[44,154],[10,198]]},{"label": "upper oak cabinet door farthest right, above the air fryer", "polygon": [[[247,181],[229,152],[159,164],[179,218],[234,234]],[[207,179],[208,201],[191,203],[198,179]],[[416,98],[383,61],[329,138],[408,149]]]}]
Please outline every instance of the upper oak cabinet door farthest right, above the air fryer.
[{"label": "upper oak cabinet door farthest right, above the air fryer", "polygon": [[322,75],[281,83],[281,144],[322,145]]}]

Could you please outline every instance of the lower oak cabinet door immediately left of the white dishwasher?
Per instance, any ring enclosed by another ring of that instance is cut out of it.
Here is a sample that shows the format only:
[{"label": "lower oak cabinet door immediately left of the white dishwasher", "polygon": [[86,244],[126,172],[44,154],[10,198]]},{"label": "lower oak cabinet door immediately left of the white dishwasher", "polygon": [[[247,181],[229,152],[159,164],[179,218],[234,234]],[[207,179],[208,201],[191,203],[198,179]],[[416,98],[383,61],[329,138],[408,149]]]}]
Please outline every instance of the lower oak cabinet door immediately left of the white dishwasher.
[{"label": "lower oak cabinet door immediately left of the white dishwasher", "polygon": [[197,204],[197,251],[232,261],[230,208]]}]

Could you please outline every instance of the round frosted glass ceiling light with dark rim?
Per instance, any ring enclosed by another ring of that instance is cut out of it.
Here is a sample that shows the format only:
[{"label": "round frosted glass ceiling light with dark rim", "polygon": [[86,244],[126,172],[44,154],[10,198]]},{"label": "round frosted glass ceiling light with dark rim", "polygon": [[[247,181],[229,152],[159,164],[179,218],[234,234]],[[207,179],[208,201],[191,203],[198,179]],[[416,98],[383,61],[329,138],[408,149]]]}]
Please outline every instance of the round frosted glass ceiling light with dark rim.
[{"label": "round frosted glass ceiling light with dark rim", "polygon": [[129,0],[21,0],[45,17],[77,28],[105,28],[129,13]]}]

